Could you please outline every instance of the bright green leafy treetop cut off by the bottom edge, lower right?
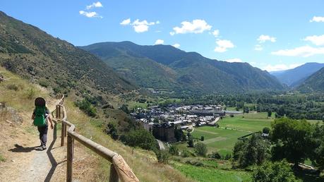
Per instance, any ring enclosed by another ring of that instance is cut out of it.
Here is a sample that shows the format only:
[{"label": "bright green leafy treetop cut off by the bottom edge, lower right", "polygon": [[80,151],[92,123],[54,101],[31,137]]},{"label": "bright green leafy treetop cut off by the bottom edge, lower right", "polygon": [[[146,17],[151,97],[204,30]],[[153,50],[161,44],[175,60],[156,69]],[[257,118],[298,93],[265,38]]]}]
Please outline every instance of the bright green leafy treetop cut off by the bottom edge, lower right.
[{"label": "bright green leafy treetop cut off by the bottom edge, lower right", "polygon": [[255,182],[293,182],[300,181],[286,161],[265,162],[253,172]]}]

